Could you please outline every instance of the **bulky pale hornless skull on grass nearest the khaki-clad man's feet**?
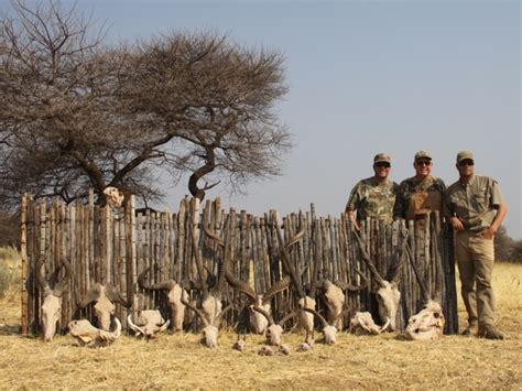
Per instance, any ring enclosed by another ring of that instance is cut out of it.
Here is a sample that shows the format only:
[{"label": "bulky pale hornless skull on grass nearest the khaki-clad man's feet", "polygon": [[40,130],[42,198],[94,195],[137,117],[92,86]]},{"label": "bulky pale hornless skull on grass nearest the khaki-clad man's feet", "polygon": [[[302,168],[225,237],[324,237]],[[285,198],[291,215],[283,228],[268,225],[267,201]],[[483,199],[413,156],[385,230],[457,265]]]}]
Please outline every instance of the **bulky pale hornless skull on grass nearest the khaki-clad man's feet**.
[{"label": "bulky pale hornless skull on grass nearest the khaki-clad man's feet", "polygon": [[444,324],[443,307],[431,300],[418,314],[410,317],[405,336],[415,340],[439,339],[444,333]]}]

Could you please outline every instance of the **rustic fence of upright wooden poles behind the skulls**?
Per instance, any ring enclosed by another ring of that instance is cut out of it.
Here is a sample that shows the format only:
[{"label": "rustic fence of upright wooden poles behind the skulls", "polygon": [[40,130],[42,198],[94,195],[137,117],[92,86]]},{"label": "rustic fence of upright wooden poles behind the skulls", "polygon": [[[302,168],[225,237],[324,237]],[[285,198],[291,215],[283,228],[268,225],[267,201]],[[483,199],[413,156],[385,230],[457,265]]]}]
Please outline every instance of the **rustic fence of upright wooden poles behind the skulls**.
[{"label": "rustic fence of upright wooden poles behind the skulls", "polygon": [[[30,196],[24,196],[21,213],[22,333],[40,332],[42,292],[34,269],[41,256],[45,257],[46,273],[56,272],[58,278],[63,274],[59,271],[61,260],[67,259],[72,264],[73,276],[62,301],[62,330],[73,318],[94,321],[93,308],[80,312],[77,303],[97,282],[110,283],[119,289],[123,297],[132,300],[133,305],[129,309],[116,305],[115,315],[127,327],[128,315],[160,305],[160,292],[143,291],[137,283],[146,268],[151,268],[146,273],[148,283],[198,280],[192,246],[193,221],[196,221],[197,249],[202,251],[206,268],[218,275],[224,253],[206,237],[203,225],[227,242],[232,254],[233,274],[249,281],[257,292],[265,292],[285,275],[280,259],[276,222],[282,224],[285,240],[301,227],[305,228],[303,239],[290,250],[291,262],[297,275],[302,276],[303,285],[312,281],[314,268],[318,268],[322,278],[330,281],[358,284],[360,275],[357,271],[370,280],[370,271],[360,256],[351,221],[344,214],[336,218],[317,217],[312,205],[309,211],[290,214],[276,221],[273,210],[263,216],[235,209],[226,213],[219,198],[207,200],[200,209],[191,207],[191,204],[187,197],[181,200],[177,213],[137,213],[132,196],[121,208],[96,206],[93,197],[88,205],[65,205],[57,200],[35,203]],[[443,304],[445,333],[457,333],[453,236],[447,225],[441,222],[438,214],[433,213],[422,221],[384,224],[368,219],[363,221],[360,232],[371,260],[385,278],[393,268],[393,256],[400,248],[403,229],[410,233],[407,240],[413,258],[404,262],[401,271],[398,329],[404,329],[409,317],[425,304],[412,268],[414,262],[431,297]],[[191,295],[197,298],[198,293],[191,292]],[[237,295],[225,284],[222,300],[230,302]],[[274,317],[282,317],[292,311],[294,298],[292,289],[278,294],[272,301]],[[345,321],[349,321],[356,311],[369,311],[373,318],[379,318],[374,295],[368,290],[347,292],[346,298],[351,314],[347,314]],[[195,321],[191,312],[185,316],[185,324]],[[231,312],[227,323],[244,324],[244,316],[238,311]]]}]

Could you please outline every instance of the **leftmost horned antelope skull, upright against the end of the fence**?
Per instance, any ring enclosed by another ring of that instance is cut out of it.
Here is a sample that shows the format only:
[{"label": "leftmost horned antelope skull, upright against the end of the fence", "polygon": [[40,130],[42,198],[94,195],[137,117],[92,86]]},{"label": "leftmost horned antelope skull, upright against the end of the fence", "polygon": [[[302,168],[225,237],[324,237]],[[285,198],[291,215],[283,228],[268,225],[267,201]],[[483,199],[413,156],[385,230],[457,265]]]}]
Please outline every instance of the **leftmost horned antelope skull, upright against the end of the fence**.
[{"label": "leftmost horned antelope skull, upright against the end of the fence", "polygon": [[[70,263],[62,260],[65,275],[61,282],[53,283],[45,279],[45,257],[40,257],[35,265],[36,281],[43,296],[42,300],[42,335],[45,341],[52,340],[56,334],[56,324],[62,316],[62,295],[70,278]],[[56,280],[52,278],[51,280]]]}]

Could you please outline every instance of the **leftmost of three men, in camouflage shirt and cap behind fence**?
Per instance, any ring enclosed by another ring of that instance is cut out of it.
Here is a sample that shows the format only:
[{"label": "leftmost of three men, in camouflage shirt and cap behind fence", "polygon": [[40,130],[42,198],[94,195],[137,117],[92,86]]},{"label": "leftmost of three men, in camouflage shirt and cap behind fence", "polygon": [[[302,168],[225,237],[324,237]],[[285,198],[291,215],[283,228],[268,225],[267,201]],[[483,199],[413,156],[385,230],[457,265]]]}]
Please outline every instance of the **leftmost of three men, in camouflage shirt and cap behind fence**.
[{"label": "leftmost of three men, in camouflage shirt and cap behind fence", "polygon": [[373,158],[374,175],[359,181],[352,188],[345,213],[354,221],[356,229],[360,229],[360,222],[368,217],[387,222],[393,220],[398,184],[388,180],[390,169],[390,156],[378,153]]}]

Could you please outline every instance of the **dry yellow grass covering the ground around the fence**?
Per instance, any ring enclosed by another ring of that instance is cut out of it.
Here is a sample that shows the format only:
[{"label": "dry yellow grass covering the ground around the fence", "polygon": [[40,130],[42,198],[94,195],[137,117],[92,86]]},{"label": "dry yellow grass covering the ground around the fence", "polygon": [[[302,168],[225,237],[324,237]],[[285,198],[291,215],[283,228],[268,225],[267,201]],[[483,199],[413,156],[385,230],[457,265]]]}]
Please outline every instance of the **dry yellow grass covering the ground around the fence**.
[{"label": "dry yellow grass covering the ground around the fence", "polygon": [[[236,337],[220,336],[210,350],[193,334],[164,335],[150,343],[123,336],[109,348],[83,349],[68,336],[44,344],[15,334],[20,319],[17,292],[0,301],[1,388],[28,389],[352,389],[352,388],[522,388],[522,265],[498,264],[494,287],[498,325],[507,339],[491,341],[445,336],[412,343],[393,335],[342,334],[336,346],[316,344],[297,352],[298,334],[285,341],[290,356],[257,354],[260,336],[248,338],[243,354],[231,350]],[[461,303],[460,307],[461,307]],[[460,319],[464,313],[460,313]]]}]

